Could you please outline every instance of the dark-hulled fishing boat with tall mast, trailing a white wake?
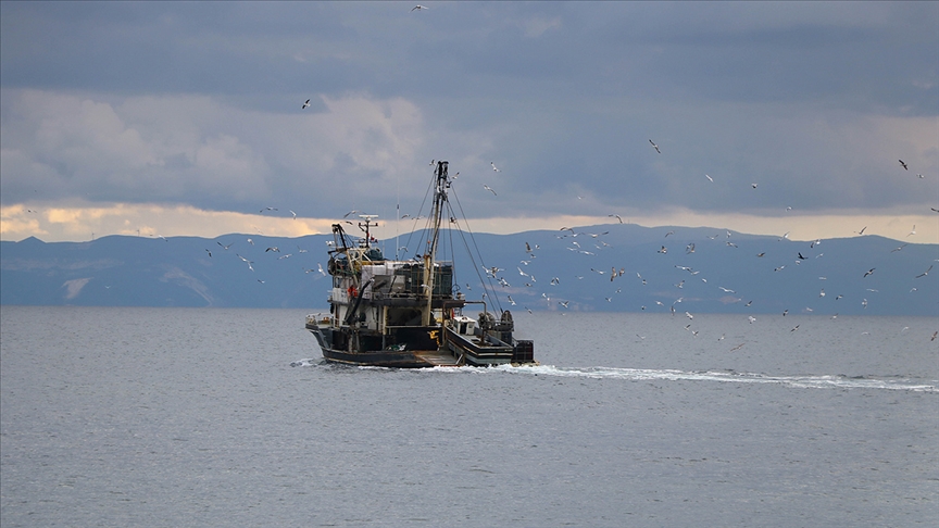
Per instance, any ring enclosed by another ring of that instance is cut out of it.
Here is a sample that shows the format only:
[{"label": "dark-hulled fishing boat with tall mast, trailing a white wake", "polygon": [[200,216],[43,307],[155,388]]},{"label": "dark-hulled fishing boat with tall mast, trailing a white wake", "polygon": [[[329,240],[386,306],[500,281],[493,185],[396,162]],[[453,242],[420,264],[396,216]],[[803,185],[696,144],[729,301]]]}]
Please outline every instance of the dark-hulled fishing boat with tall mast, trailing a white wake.
[{"label": "dark-hulled fishing boat with tall mast, trailing a white wake", "polygon": [[[533,341],[513,337],[512,314],[497,310],[494,293],[466,299],[453,261],[437,257],[443,214],[453,213],[448,166],[437,162],[434,172],[424,254],[387,259],[372,236],[374,215],[360,215],[364,237],[333,225],[329,314],[308,315],[305,325],[327,362],[396,368],[535,363]],[[454,215],[448,218],[447,229],[459,228]],[[475,318],[466,314],[474,307]]]}]

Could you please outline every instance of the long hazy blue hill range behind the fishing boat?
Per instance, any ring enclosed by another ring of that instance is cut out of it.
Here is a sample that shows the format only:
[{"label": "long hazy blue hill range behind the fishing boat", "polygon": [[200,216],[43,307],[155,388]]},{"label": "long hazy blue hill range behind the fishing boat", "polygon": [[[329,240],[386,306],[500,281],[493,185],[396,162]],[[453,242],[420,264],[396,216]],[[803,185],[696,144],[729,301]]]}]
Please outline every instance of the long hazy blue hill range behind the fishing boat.
[{"label": "long hazy blue hill range behind the fishing boat", "polygon": [[[422,235],[399,243],[421,247]],[[0,242],[0,303],[324,310],[331,280],[318,265],[326,268],[331,240],[225,235]],[[395,240],[378,246],[393,253]],[[876,236],[810,243],[716,228],[605,225],[458,231],[441,239],[441,252],[452,248],[456,282],[468,299],[486,282],[490,298],[516,311],[939,315],[939,244]],[[499,268],[497,279],[483,267]]]}]

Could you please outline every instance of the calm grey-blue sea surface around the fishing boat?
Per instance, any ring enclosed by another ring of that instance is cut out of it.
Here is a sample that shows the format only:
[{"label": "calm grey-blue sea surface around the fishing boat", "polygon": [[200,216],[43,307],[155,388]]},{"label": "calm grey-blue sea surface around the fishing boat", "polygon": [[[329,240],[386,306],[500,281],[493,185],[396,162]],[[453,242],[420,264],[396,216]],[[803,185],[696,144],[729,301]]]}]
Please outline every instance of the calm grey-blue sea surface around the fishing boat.
[{"label": "calm grey-blue sea surface around the fishing boat", "polygon": [[523,312],[541,366],[391,370],[304,315],[2,306],[0,525],[939,526],[935,317]]}]

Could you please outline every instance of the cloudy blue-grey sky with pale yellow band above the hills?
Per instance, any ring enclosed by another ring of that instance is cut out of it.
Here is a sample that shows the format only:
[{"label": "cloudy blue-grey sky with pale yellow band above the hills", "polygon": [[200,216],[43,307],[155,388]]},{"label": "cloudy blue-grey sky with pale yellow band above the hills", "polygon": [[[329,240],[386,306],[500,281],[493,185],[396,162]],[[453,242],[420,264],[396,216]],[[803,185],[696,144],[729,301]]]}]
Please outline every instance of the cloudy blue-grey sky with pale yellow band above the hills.
[{"label": "cloudy blue-grey sky with pale yellow band above the hills", "polygon": [[0,2],[0,236],[387,222],[443,159],[476,230],[939,243],[939,2],[414,5]]}]

